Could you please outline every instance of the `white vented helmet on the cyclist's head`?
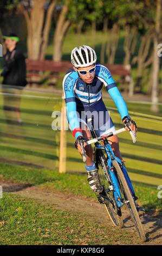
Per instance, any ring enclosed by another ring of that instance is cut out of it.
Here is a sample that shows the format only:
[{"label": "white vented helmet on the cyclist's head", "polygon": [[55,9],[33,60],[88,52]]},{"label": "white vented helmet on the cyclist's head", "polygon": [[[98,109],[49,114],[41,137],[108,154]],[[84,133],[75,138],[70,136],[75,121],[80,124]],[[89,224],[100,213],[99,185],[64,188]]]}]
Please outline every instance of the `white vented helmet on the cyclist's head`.
[{"label": "white vented helmet on the cyclist's head", "polygon": [[75,47],[71,53],[71,62],[75,68],[93,65],[96,63],[96,59],[95,51],[87,45]]}]

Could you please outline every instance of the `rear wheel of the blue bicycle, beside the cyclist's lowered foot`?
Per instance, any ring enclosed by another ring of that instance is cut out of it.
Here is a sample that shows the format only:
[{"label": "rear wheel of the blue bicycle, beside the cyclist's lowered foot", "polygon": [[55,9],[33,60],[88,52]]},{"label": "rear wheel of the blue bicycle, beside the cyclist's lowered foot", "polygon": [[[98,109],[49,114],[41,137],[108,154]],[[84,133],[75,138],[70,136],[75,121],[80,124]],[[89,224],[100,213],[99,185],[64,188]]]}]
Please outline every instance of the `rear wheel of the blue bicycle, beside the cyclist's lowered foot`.
[{"label": "rear wheel of the blue bicycle, beside the cyclist's lowered foot", "polygon": [[[101,198],[103,198],[103,201],[105,202],[105,208],[107,211],[107,214],[109,218],[111,219],[113,225],[118,228],[122,228],[123,222],[122,222],[122,214],[121,209],[118,208],[116,205],[115,199],[113,197],[113,191],[107,192],[110,184],[108,181],[108,172],[107,172],[107,162],[105,159],[105,155],[102,153],[102,151],[98,151],[99,154],[99,161],[98,161],[98,170],[99,170],[99,180],[101,185],[103,186],[103,192],[105,194],[104,197],[102,197],[102,193],[100,193]],[[105,174],[106,173],[106,174]]]}]

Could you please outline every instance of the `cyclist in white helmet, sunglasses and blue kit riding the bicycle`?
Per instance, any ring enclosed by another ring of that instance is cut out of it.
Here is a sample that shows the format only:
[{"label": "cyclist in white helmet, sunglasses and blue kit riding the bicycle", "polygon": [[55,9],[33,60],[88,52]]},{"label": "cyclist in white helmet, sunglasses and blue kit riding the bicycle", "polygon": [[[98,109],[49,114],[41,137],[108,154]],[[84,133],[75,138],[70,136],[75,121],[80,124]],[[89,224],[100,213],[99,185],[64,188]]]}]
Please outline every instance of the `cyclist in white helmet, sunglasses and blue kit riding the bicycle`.
[{"label": "cyclist in white helmet, sunglasses and blue kit riding the bicycle", "polygon": [[[71,53],[71,62],[73,68],[67,72],[63,79],[67,118],[75,137],[75,147],[82,154],[82,147],[79,143],[82,141],[86,151],[85,167],[89,185],[93,191],[101,193],[102,185],[98,178],[98,170],[93,162],[93,149],[91,145],[86,145],[86,141],[91,138],[87,127],[88,118],[92,118],[97,136],[115,131],[113,121],[102,101],[101,89],[103,85],[115,102],[125,129],[129,131],[128,124],[131,124],[131,130],[136,133],[137,126],[135,121],[129,117],[126,103],[116,87],[111,73],[106,66],[96,63],[96,53],[91,47],[86,45],[79,48],[75,47]],[[112,136],[111,142],[115,156],[123,162],[118,137]],[[136,206],[139,215],[144,214],[144,208],[138,204]]]}]

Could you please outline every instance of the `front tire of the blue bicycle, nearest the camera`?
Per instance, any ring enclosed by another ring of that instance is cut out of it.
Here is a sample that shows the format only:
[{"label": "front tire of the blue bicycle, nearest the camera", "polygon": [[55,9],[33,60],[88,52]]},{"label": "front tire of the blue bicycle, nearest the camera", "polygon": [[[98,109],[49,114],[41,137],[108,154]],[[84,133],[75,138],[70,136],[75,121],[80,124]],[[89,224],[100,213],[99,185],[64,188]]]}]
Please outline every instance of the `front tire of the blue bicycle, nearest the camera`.
[{"label": "front tire of the blue bicycle, nearest the camera", "polygon": [[142,228],[142,223],[140,221],[138,211],[135,207],[135,203],[132,198],[129,187],[127,185],[125,176],[122,173],[122,170],[117,161],[113,161],[113,167],[115,168],[116,173],[118,174],[120,189],[121,189],[122,195],[124,196],[125,202],[127,202],[126,205],[129,210],[129,214],[131,215],[132,221],[134,222],[135,229],[137,230],[140,239],[142,241],[146,241],[146,236],[145,236],[144,230]]}]

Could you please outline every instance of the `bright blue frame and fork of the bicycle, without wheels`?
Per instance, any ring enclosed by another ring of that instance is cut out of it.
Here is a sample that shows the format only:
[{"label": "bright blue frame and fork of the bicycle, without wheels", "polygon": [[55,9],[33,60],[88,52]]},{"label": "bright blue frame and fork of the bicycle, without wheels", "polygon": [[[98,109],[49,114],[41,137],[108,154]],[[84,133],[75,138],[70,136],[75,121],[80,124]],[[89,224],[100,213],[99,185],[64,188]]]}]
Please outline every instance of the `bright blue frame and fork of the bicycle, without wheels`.
[{"label": "bright blue frame and fork of the bicycle, without wheels", "polygon": [[97,149],[101,150],[101,149],[104,148],[105,151],[106,151],[107,167],[108,167],[108,173],[109,173],[109,176],[111,177],[111,182],[112,182],[112,185],[113,185],[114,199],[115,199],[115,202],[116,202],[116,205],[118,206],[118,208],[121,208],[124,204],[122,203],[118,178],[116,177],[116,173],[114,172],[113,161],[117,161],[119,163],[120,168],[121,168],[122,172],[124,173],[125,179],[126,179],[127,184],[130,188],[130,191],[132,193],[132,197],[135,198],[135,193],[134,193],[134,190],[133,190],[132,182],[129,179],[127,170],[126,170],[124,164],[122,164],[122,161],[114,155],[112,147],[109,143],[106,143],[104,146],[101,146],[101,144],[96,143],[95,146],[96,146],[96,150]]}]

